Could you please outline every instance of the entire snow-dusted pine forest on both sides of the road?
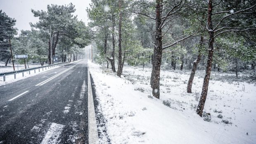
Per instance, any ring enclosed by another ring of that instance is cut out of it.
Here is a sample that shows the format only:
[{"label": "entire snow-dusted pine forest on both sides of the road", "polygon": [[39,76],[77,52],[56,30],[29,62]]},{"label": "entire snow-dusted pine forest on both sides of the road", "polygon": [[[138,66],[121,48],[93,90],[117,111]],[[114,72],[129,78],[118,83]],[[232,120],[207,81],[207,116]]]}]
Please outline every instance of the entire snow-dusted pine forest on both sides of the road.
[{"label": "entire snow-dusted pine forest on both sides of the road", "polygon": [[[78,21],[74,5],[32,9],[39,18],[31,30],[17,35],[16,20],[0,11],[0,60],[5,65],[14,53],[50,64],[79,59],[85,46],[94,44],[93,60],[121,77],[124,63],[152,67],[152,95],[160,98],[161,68],[188,70],[187,93],[197,69],[205,70],[197,114],[202,116],[211,71],[249,72],[256,79],[256,2],[254,0],[91,0],[88,26]],[[50,30],[51,28],[51,30]],[[50,33],[51,32],[51,33]],[[50,44],[52,37],[52,44]],[[9,41],[10,39],[10,41]],[[52,47],[51,47],[52,46]],[[51,53],[52,49],[52,53]],[[19,61],[24,63],[25,61]]]}]

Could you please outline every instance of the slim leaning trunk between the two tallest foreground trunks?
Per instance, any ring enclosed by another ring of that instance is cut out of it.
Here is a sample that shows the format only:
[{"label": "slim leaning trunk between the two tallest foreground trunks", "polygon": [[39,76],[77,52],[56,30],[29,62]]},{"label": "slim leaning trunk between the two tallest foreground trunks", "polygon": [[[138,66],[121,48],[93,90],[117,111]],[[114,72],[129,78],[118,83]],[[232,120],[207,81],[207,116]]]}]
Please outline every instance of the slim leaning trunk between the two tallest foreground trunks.
[{"label": "slim leaning trunk between the two tallest foreground trunks", "polygon": [[204,37],[201,35],[199,48],[198,48],[197,59],[193,62],[193,67],[192,67],[192,70],[191,70],[190,79],[188,80],[188,83],[187,83],[187,93],[192,93],[192,83],[193,83],[193,80],[194,80],[194,74],[196,73],[196,70],[197,70],[197,64],[201,60],[201,56],[202,56],[201,49],[203,48],[203,42],[204,42]]}]

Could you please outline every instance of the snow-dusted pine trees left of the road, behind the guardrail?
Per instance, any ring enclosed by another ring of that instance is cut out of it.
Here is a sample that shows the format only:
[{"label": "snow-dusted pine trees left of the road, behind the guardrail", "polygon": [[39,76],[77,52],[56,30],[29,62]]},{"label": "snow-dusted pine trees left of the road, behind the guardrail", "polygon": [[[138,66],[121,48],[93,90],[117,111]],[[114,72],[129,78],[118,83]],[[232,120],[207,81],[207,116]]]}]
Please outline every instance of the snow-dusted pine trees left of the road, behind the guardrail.
[{"label": "snow-dusted pine trees left of the road, behind the guardrail", "polygon": [[[75,11],[72,3],[65,6],[48,5],[47,11],[31,9],[31,13],[40,20],[30,23],[31,30],[21,30],[17,35],[16,20],[1,10],[0,60],[5,62],[5,66],[12,61],[8,39],[13,55],[28,54],[28,61],[41,65],[50,64],[51,49],[52,57],[59,56],[62,62],[81,59],[84,54],[84,49],[81,48],[90,43],[90,34],[85,23],[73,16]],[[26,68],[25,62],[18,60],[18,63],[24,64]]]}]

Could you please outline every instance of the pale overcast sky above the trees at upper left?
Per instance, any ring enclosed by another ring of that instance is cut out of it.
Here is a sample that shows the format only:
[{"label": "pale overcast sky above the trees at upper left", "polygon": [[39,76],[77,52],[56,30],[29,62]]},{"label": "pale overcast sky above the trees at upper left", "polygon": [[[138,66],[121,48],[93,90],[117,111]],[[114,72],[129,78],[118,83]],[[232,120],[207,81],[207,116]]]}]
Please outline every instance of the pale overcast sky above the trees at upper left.
[{"label": "pale overcast sky above the trees at upper left", "polygon": [[47,10],[47,5],[68,5],[70,2],[75,5],[78,20],[88,23],[86,7],[89,7],[90,0],[0,0],[0,9],[9,17],[17,20],[15,27],[21,30],[31,30],[29,22],[36,23],[39,19],[34,17],[31,9]]}]

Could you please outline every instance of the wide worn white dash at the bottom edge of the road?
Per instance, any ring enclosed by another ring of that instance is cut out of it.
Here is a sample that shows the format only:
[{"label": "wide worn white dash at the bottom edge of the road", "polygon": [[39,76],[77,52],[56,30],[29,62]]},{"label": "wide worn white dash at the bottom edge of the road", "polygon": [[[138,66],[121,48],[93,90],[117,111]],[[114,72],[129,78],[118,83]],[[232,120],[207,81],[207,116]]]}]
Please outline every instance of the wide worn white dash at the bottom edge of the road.
[{"label": "wide worn white dash at the bottom edge of the road", "polygon": [[56,144],[59,143],[58,138],[62,133],[62,130],[65,125],[52,123],[49,130],[47,131],[45,138],[41,142],[41,144]]}]

